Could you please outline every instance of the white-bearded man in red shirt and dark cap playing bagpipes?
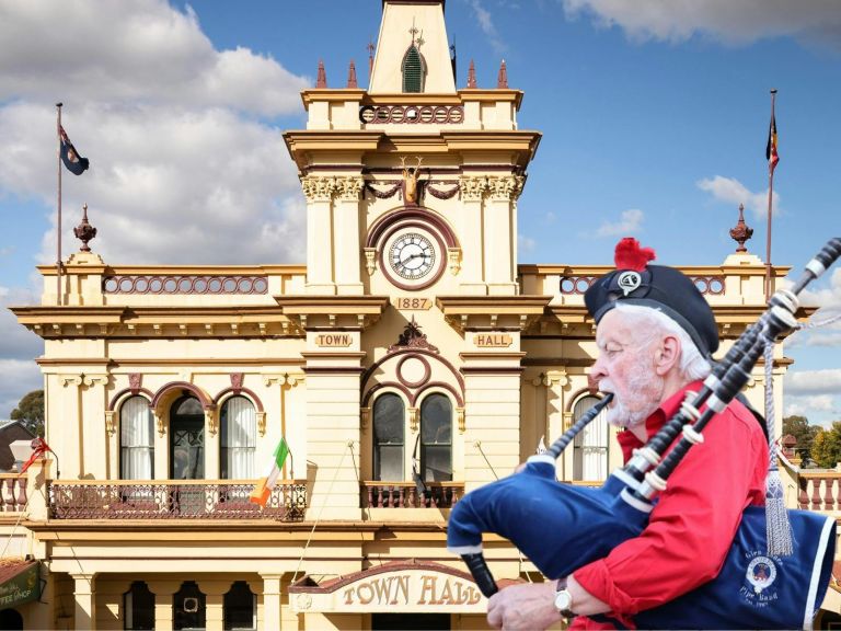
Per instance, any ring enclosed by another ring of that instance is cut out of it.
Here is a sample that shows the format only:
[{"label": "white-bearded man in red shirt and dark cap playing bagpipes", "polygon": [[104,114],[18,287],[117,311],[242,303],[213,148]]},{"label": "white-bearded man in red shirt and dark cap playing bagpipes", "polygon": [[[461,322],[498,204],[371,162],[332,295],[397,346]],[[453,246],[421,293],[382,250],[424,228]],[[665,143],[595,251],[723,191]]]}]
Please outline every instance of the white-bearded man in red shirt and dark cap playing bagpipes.
[{"label": "white-bearded man in red shirt and dark cap playing bagpipes", "polygon": [[[706,300],[677,269],[648,265],[653,257],[635,240],[621,241],[618,269],[585,296],[598,324],[591,377],[614,395],[607,417],[623,429],[625,460],[675,415],[688,390],[700,389],[718,347]],[[764,503],[768,444],[738,401],[704,437],[669,478],[638,537],[556,582],[502,589],[488,604],[491,626],[545,629],[567,618],[573,629],[634,628],[638,611],[715,577],[742,510]]]}]

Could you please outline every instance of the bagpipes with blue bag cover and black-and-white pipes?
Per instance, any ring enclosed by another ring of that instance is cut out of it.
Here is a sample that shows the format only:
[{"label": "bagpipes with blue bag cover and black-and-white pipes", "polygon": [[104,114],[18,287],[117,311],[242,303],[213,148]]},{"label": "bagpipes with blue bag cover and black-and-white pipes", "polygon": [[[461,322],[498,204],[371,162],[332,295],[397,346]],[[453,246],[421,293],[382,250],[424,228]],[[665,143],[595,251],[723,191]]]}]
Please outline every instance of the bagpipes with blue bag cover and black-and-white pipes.
[{"label": "bagpipes with blue bag cover and black-and-white pipes", "polygon": [[[648,523],[655,495],[666,489],[669,475],[692,445],[703,440],[706,424],[748,382],[764,346],[797,326],[797,295],[839,256],[841,239],[834,238],[806,265],[791,290],[774,294],[769,309],[715,365],[702,389],[688,395],[680,411],[600,489],[557,482],[555,459],[612,394],[590,409],[546,454],[529,458],[521,472],[464,495],[450,514],[447,548],[462,557],[480,590],[486,597],[498,590],[482,553],[483,532],[509,539],[548,578],[567,576],[638,536]],[[782,490],[767,500],[780,506],[782,501]],[[717,577],[638,612],[636,624],[646,629],[810,629],[831,576],[836,520],[793,509],[782,513],[786,516],[794,553],[775,551],[770,541],[773,520],[767,518],[764,507],[750,506]]]}]

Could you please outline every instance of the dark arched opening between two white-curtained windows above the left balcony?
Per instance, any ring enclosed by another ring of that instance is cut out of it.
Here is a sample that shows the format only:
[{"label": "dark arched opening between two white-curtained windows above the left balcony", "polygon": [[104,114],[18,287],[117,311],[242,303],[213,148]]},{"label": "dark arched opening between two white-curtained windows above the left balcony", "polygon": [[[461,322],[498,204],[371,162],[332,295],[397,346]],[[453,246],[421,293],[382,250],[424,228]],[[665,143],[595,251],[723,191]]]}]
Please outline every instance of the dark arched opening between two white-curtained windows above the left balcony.
[{"label": "dark arched opening between two white-curtained windows above the left balcony", "polygon": [[170,479],[205,477],[205,413],[201,403],[185,395],[170,408]]}]

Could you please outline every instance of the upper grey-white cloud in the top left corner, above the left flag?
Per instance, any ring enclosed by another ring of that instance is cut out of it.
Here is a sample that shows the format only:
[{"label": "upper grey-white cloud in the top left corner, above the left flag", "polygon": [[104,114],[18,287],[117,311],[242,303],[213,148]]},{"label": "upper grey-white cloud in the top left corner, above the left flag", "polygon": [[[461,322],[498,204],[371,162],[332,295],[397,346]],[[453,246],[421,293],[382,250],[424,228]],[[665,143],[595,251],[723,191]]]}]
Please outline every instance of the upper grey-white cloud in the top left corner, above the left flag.
[{"label": "upper grey-white cloud in the top left corner, above the left flag", "polygon": [[195,13],[164,0],[0,2],[0,100],[64,93],[68,107],[122,101],[277,115],[297,112],[309,83],[247,48],[215,50]]}]

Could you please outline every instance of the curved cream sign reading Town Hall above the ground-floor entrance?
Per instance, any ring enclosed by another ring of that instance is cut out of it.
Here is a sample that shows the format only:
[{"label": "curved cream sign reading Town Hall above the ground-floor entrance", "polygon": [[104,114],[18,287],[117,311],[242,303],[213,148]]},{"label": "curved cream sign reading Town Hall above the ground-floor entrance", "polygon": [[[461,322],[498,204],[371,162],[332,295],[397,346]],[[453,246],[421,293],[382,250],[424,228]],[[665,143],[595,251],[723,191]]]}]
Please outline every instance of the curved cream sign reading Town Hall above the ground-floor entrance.
[{"label": "curved cream sign reading Town Hall above the ground-floor entrance", "polygon": [[295,585],[290,588],[292,609],[299,613],[485,611],[487,600],[462,572],[438,564],[407,566],[390,563],[318,587]]}]

